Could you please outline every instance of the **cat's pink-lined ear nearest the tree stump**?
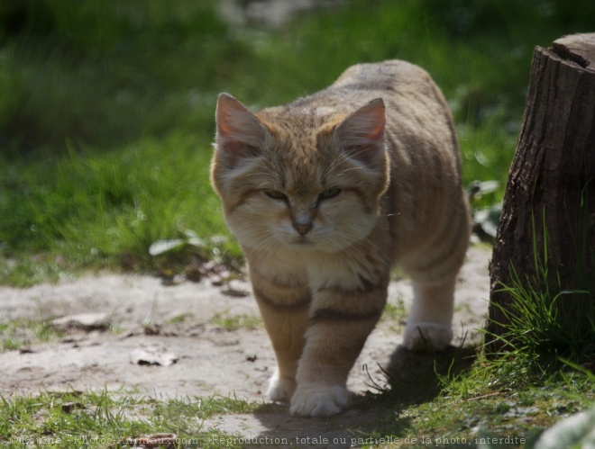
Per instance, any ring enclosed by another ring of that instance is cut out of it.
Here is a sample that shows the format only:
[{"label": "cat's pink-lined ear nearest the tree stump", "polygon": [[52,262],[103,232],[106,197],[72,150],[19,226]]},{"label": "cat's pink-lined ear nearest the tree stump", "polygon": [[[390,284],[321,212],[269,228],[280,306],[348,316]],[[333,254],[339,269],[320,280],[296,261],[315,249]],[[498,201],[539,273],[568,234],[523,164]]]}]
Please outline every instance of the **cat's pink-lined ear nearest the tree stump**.
[{"label": "cat's pink-lined ear nearest the tree stump", "polygon": [[343,119],[334,130],[340,148],[349,157],[366,165],[376,166],[385,159],[384,102],[376,98]]}]

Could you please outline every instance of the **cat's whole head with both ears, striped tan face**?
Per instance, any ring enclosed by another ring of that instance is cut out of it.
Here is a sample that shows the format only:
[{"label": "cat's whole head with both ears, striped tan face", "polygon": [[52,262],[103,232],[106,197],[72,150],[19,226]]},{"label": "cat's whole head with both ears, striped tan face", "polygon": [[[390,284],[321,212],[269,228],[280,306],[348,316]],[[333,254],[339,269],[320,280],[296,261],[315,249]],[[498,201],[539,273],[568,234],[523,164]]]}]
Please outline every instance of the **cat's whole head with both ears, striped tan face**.
[{"label": "cat's whole head with both ears, striped tan face", "polygon": [[337,252],[370,234],[389,184],[380,98],[253,113],[220,94],[216,121],[211,181],[243,246]]}]

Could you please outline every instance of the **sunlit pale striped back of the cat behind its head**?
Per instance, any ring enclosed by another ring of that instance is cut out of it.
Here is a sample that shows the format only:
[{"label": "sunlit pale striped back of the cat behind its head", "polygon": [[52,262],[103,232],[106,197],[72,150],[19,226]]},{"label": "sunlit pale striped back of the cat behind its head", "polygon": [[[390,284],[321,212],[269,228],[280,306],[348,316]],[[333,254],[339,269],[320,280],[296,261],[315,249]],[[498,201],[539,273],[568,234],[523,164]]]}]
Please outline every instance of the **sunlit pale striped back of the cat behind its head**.
[{"label": "sunlit pale striped back of the cat behind its head", "polygon": [[439,148],[460,176],[459,148],[453,117],[440,88],[421,67],[398,59],[347,68],[323,91],[288,105],[289,110],[334,111],[348,114],[363,103],[382,98],[387,106],[386,131],[394,157],[411,161],[410,148]]}]

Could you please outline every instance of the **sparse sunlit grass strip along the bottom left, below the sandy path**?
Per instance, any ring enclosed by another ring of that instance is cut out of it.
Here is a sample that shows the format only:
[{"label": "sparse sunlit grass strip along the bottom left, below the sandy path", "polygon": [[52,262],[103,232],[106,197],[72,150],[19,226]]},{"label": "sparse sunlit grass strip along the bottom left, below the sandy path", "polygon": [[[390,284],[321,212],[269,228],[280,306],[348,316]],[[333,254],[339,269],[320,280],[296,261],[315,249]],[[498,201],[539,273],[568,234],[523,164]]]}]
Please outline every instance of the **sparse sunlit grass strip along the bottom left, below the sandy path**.
[{"label": "sparse sunlit grass strip along the bottom left, below the sandy path", "polygon": [[154,400],[134,391],[12,396],[0,398],[0,443],[3,447],[115,447],[123,439],[163,433],[178,436],[174,447],[218,448],[220,439],[233,436],[203,429],[203,420],[254,409],[231,398]]}]

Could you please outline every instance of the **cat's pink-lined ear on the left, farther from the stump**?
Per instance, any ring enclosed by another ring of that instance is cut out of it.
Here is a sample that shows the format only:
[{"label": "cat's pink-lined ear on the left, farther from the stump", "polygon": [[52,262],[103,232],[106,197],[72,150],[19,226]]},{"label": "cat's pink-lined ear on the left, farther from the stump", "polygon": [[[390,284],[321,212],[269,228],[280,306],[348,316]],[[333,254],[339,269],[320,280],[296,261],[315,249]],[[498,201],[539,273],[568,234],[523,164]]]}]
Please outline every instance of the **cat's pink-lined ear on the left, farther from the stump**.
[{"label": "cat's pink-lined ear on the left, farther from the stump", "polygon": [[225,166],[233,168],[244,157],[260,154],[267,131],[256,116],[232,95],[219,94],[215,119],[215,148]]}]

